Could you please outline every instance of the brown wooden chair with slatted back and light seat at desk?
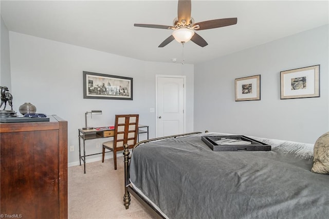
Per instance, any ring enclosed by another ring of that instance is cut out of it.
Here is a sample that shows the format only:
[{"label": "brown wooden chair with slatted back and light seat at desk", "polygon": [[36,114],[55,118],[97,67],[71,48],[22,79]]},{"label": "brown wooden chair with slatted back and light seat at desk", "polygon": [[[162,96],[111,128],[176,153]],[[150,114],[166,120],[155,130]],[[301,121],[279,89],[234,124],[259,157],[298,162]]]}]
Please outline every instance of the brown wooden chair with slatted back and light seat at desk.
[{"label": "brown wooden chair with slatted back and light seat at desk", "polygon": [[115,115],[114,139],[103,143],[104,162],[105,149],[113,151],[114,169],[117,169],[117,151],[123,151],[123,145],[129,144],[133,148],[137,142],[138,114]]}]

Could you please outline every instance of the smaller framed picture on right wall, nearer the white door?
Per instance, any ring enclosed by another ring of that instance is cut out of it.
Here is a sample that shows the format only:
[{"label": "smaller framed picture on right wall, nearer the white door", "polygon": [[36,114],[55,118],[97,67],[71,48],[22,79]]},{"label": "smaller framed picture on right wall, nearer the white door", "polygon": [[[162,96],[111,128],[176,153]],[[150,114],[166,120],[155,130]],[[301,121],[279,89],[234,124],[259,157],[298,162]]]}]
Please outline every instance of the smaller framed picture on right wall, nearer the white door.
[{"label": "smaller framed picture on right wall, nearer the white door", "polygon": [[235,79],[235,101],[260,99],[261,75]]}]

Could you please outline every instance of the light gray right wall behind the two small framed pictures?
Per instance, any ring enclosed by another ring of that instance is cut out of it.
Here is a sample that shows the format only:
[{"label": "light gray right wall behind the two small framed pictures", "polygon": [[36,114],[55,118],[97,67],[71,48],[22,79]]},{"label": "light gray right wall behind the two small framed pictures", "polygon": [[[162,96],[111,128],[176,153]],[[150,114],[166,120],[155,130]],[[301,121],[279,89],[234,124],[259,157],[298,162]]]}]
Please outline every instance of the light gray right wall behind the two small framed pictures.
[{"label": "light gray right wall behind the two small framed pictures", "polygon": [[[232,42],[234,43],[234,42]],[[194,66],[194,129],[315,143],[329,130],[328,25]],[[320,64],[320,97],[280,100],[280,71]],[[261,100],[234,79],[261,75]]]}]

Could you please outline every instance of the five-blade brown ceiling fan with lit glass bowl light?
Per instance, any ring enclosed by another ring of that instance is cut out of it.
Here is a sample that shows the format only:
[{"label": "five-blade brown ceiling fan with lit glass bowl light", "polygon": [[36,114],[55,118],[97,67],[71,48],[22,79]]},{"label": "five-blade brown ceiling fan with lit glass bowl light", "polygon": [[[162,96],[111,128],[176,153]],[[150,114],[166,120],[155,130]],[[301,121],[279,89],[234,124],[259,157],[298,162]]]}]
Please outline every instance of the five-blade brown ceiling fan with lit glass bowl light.
[{"label": "five-blade brown ceiling fan with lit glass bowl light", "polygon": [[170,35],[158,47],[164,47],[173,40],[176,40],[183,45],[191,40],[195,44],[205,47],[208,43],[197,34],[195,30],[225,27],[237,23],[237,17],[194,23],[194,19],[191,17],[191,0],[178,0],[177,11],[178,16],[174,19],[173,26],[156,24],[134,24],[134,26],[174,30],[172,35]]}]

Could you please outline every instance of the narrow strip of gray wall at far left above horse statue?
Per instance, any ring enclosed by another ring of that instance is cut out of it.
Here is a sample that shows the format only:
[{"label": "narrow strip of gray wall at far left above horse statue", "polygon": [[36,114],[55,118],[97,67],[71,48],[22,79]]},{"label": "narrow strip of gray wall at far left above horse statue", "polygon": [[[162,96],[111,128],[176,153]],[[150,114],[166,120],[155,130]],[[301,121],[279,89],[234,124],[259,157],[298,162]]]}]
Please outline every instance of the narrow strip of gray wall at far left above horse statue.
[{"label": "narrow strip of gray wall at far left above horse statue", "polygon": [[[0,86],[7,86],[11,92],[11,77],[10,77],[10,58],[9,58],[9,31],[4,20],[1,17],[1,74]],[[9,106],[7,106],[9,109]]]}]

